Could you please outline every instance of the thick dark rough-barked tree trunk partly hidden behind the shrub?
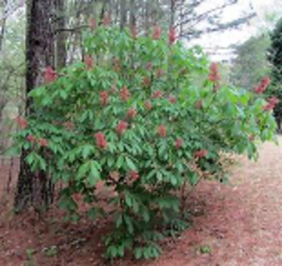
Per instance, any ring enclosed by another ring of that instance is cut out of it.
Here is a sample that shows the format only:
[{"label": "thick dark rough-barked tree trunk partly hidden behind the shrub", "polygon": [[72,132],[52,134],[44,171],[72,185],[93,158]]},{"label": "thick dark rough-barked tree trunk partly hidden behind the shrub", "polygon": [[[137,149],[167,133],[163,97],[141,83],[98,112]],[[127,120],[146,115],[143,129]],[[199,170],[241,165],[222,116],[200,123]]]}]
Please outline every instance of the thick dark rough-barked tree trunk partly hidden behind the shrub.
[{"label": "thick dark rough-barked tree trunk partly hidden behind the shrub", "polygon": [[[26,93],[43,84],[43,71],[54,67],[54,0],[27,0],[26,32]],[[26,115],[35,112],[30,98],[25,105]],[[47,207],[53,189],[46,173],[32,173],[26,162],[27,151],[20,158],[20,169],[15,195],[15,208],[22,212],[32,206],[35,210]]]}]

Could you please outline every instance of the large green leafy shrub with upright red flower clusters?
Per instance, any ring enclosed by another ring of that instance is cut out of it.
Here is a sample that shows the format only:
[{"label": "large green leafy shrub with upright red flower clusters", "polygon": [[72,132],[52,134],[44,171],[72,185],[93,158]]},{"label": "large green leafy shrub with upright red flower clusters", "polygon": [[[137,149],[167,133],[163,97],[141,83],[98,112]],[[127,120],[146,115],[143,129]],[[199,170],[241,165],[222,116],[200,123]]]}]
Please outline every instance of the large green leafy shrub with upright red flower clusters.
[{"label": "large green leafy shrub with upright red flower clusters", "polygon": [[[185,227],[177,191],[198,183],[193,166],[220,178],[220,152],[255,158],[256,141],[273,139],[271,108],[259,93],[220,86],[218,65],[173,30],[136,36],[100,26],[84,38],[84,62],[46,69],[45,85],[30,92],[36,112],[18,118],[16,148],[28,150],[33,171],[65,184],[60,205],[73,219],[75,195],[94,219],[101,184],[112,189],[107,257],[157,257],[161,229]],[[200,87],[195,73],[206,77]]]}]

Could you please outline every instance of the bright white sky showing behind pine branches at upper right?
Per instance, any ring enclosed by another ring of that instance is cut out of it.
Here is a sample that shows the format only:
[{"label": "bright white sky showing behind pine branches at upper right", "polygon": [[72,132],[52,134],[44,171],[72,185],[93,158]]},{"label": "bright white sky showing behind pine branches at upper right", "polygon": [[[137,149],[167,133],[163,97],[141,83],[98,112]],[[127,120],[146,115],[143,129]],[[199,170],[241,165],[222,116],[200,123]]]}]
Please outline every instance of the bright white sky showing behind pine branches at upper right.
[{"label": "bright white sky showing behind pine branches at upper right", "polygon": [[[224,0],[208,0],[201,5],[199,12],[220,6],[224,2]],[[270,27],[271,23],[267,22],[266,19],[267,14],[275,13],[276,17],[282,14],[282,0],[239,0],[237,4],[224,9],[221,22],[237,19],[240,15],[250,11],[256,12],[257,17],[250,20],[250,23],[241,26],[239,30],[205,34],[202,38],[190,42],[189,45],[200,44],[206,52],[211,53],[213,60],[228,59],[232,57],[232,50],[227,49],[230,45],[243,43],[251,36],[257,35]]]}]

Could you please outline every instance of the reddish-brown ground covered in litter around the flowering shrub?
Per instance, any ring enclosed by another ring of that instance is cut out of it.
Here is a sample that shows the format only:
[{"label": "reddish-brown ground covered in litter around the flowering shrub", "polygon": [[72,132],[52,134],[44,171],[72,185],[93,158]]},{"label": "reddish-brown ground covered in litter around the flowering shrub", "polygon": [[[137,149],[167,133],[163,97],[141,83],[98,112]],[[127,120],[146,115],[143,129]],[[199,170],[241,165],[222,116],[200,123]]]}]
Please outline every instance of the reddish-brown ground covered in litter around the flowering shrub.
[{"label": "reddish-brown ground covered in litter around the flowering shrub", "polygon": [[[8,170],[8,163],[0,162],[0,266],[110,265],[101,257],[109,221],[69,224],[56,208],[41,217],[14,216],[12,194],[6,193]],[[112,265],[282,265],[282,146],[264,144],[257,163],[240,158],[232,172],[231,184],[203,181],[189,194],[193,226],[164,241],[162,257],[138,262],[128,257]],[[51,246],[54,256],[43,251]],[[201,254],[203,246],[211,252]],[[35,250],[31,259],[28,249]]]}]

